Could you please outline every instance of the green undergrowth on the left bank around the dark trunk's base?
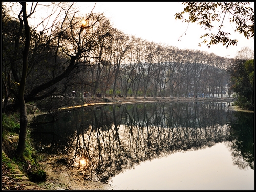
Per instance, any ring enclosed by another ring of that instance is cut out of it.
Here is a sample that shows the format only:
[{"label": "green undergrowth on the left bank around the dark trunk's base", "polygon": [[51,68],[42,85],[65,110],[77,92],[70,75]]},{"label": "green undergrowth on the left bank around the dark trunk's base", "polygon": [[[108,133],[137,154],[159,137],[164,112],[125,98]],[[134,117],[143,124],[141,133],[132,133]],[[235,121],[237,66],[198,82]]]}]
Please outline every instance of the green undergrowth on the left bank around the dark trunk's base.
[{"label": "green undergrowth on the left bank around the dark trunk's base", "polygon": [[[19,140],[19,129],[18,113],[2,115],[2,163],[5,163],[10,170],[13,170],[15,165],[17,165],[32,182],[44,181],[46,179],[46,172],[38,163],[41,157],[34,149],[29,130],[27,130],[25,150],[22,158],[14,156]],[[15,139],[10,139],[11,137]]]}]

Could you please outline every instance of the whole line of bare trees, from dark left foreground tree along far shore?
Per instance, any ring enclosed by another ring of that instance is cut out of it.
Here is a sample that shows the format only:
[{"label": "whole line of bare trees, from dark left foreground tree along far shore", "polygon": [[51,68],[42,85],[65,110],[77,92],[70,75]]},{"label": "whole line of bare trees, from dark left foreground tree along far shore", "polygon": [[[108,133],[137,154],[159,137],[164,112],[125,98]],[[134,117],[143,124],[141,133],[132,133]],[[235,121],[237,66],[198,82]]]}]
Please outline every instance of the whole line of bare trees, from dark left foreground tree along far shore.
[{"label": "whole line of bare trees, from dark left foreground tree along far shore", "polygon": [[44,5],[53,12],[30,25],[42,5],[32,3],[27,12],[27,4],[19,4],[17,14],[15,3],[2,3],[3,112],[20,110],[18,156],[25,146],[28,102],[48,98],[51,107],[53,96],[73,90],[187,97],[222,93],[229,84],[232,59],[126,35],[103,14],[79,15],[72,2]]}]

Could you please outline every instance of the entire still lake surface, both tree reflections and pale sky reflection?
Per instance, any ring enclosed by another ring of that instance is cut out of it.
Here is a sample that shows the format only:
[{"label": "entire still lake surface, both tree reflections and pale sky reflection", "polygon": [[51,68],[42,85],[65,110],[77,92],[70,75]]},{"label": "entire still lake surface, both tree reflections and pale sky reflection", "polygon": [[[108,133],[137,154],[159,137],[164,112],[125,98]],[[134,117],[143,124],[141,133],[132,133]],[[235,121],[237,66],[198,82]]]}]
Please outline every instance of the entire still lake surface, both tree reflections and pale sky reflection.
[{"label": "entire still lake surface, both tree reflections and pale sky reflection", "polygon": [[90,173],[84,178],[113,190],[252,190],[254,113],[228,105],[91,106],[59,113],[32,133],[38,151],[65,155]]}]

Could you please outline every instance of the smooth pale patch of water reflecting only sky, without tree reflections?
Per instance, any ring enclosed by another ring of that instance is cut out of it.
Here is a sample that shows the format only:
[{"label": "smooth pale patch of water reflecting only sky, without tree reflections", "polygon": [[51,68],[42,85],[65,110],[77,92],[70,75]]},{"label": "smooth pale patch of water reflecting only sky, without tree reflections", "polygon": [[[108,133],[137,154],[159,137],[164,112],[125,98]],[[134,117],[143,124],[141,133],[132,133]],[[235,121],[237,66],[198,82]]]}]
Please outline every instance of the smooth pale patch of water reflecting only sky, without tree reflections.
[{"label": "smooth pale patch of water reflecting only sky, without tree reflections", "polygon": [[224,143],[146,161],[109,182],[114,190],[252,190],[254,170],[233,165]]}]

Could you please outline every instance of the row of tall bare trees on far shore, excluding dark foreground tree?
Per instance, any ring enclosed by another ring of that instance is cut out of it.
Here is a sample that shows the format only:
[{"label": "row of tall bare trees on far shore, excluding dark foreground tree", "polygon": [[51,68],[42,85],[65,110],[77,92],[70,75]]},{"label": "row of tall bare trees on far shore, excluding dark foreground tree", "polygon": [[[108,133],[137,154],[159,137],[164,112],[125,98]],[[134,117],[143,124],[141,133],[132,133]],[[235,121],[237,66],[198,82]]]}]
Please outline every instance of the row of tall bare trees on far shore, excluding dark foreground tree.
[{"label": "row of tall bare trees on far shore, excluding dark foreground tree", "polygon": [[[109,50],[100,47],[102,50],[92,52],[91,57],[96,59],[84,73],[78,74],[75,81],[79,81],[80,86],[77,85],[76,90],[112,97],[119,92],[124,97],[135,98],[187,97],[189,93],[195,96],[220,93],[222,96],[224,87],[229,84],[227,66],[232,62],[230,59],[180,50],[124,34],[122,37],[122,46],[125,45],[122,49],[114,42]],[[84,84],[91,86],[85,88]]]}]

